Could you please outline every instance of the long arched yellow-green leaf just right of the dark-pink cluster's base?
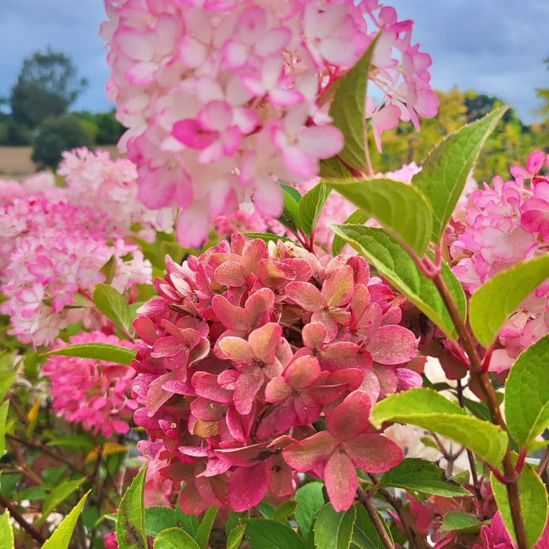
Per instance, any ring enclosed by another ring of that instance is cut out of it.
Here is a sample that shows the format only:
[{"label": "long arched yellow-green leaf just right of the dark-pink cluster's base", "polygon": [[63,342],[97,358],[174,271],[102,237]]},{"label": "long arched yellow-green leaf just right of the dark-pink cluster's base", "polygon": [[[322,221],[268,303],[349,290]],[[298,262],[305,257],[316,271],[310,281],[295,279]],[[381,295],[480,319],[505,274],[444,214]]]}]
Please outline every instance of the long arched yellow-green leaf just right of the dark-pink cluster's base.
[{"label": "long arched yellow-green leaf just right of the dark-pink cluster's base", "polygon": [[389,395],[371,411],[370,421],[381,427],[384,421],[410,423],[467,446],[493,467],[501,463],[507,434],[498,425],[471,417],[432,389],[414,388]]}]

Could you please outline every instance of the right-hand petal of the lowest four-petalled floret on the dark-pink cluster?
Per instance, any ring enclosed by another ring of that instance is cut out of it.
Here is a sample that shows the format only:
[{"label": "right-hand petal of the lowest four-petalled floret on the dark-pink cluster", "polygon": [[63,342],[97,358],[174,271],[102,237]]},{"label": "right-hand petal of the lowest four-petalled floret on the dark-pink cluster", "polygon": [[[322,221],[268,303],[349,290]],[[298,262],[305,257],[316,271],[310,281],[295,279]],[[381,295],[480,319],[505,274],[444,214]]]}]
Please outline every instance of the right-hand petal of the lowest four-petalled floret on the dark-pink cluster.
[{"label": "right-hand petal of the lowest four-petalled floret on the dark-pink cluster", "polygon": [[344,443],[345,452],[364,471],[382,473],[402,461],[402,448],[381,434],[364,433]]}]

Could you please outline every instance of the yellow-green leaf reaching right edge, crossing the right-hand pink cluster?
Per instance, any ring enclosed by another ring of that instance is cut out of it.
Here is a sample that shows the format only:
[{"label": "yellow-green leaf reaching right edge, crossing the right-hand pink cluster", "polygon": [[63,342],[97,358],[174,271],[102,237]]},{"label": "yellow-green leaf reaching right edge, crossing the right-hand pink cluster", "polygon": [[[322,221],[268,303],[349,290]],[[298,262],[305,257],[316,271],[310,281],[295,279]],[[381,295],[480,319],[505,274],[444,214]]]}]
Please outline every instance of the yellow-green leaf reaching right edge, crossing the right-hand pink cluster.
[{"label": "yellow-green leaf reaching right edge, crossing the right-hand pink cluster", "polygon": [[469,323],[484,347],[489,347],[507,317],[547,279],[548,272],[546,254],[498,272],[476,290],[469,301]]}]

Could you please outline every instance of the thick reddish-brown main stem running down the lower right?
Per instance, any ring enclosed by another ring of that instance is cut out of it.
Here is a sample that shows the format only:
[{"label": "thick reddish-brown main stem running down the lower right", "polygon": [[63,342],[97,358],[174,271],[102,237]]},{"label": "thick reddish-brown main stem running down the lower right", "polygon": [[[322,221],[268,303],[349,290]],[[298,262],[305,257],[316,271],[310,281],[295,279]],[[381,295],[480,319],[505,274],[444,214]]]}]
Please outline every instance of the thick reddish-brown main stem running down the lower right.
[{"label": "thick reddish-brown main stem running down the lower right", "polygon": [[[461,344],[465,348],[465,352],[471,362],[471,376],[478,381],[486,402],[490,411],[490,416],[493,423],[499,425],[504,432],[506,432],[506,425],[503,421],[503,417],[500,411],[500,405],[498,398],[495,395],[495,390],[488,378],[486,372],[482,368],[482,360],[476,351],[476,346],[473,338],[469,334],[469,330],[465,326],[465,323],[461,319],[460,313],[450,294],[449,289],[441,276],[441,272],[434,274],[432,278],[436,289],[439,290],[439,294],[443,299],[443,302],[448,309],[449,315],[452,318],[454,326],[458,332],[458,336]],[[517,546],[519,549],[528,549],[528,541],[526,539],[526,530],[524,529],[524,521],[522,519],[522,512],[520,509],[519,489],[517,483],[517,474],[515,466],[513,465],[513,458],[511,456],[511,449],[509,446],[505,451],[503,457],[503,471],[505,477],[509,480],[509,484],[506,484],[507,497],[509,498],[509,506],[511,508],[511,518],[513,519],[513,528],[515,529],[515,535],[517,537]]]}]

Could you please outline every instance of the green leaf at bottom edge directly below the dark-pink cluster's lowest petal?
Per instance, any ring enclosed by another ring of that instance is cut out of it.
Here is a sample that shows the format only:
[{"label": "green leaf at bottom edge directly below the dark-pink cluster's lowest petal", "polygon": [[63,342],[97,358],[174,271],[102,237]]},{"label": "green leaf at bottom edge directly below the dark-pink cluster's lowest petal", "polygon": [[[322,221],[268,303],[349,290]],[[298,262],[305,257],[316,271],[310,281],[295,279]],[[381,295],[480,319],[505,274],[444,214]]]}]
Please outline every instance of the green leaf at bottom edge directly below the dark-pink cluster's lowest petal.
[{"label": "green leaf at bottom edge directly below the dark-pink cluster's lowest petal", "polygon": [[347,511],[334,511],[330,503],[325,504],[314,522],[314,544],[317,549],[349,549],[353,527],[356,519],[356,508],[351,506]]}]

